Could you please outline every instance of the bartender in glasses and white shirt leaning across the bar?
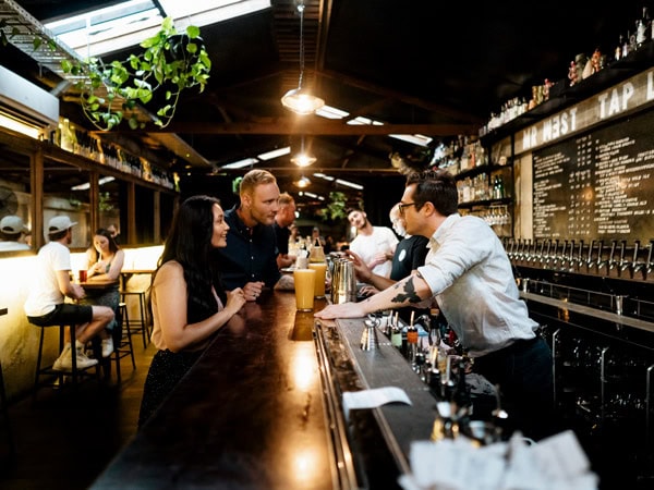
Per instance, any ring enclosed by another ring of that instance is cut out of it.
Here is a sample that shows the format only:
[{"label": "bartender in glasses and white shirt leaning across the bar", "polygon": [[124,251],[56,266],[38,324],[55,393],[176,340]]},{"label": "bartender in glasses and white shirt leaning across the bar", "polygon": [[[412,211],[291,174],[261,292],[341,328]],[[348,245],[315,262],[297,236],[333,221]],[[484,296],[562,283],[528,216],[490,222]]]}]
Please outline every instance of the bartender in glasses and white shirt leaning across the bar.
[{"label": "bartender in glasses and white shirt leaning across the bar", "polygon": [[536,440],[554,433],[552,351],[520,299],[493,229],[458,213],[455,180],[443,170],[408,175],[399,208],[407,233],[429,238],[425,265],[374,296],[330,305],[315,316],[360,318],[434,297],[474,370],[499,385],[509,429]]}]

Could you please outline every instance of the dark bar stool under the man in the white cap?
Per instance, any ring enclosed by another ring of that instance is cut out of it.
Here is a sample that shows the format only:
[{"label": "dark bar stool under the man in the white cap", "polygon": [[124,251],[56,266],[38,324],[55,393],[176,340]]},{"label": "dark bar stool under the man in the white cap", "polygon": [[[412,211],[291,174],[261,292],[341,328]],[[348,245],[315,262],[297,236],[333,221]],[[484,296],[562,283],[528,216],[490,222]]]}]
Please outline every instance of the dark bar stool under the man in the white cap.
[{"label": "dark bar stool under the man in the white cap", "polygon": [[[35,323],[33,323],[35,324]],[[49,387],[49,388],[58,388],[58,387],[63,387],[64,383],[64,377],[70,376],[71,381],[72,381],[72,385],[73,389],[76,390],[77,385],[78,385],[78,381],[81,377],[92,377],[93,375],[89,371],[90,368],[93,368],[93,366],[89,366],[87,368],[80,368],[77,369],[77,358],[74,355],[74,350],[75,350],[75,326],[66,326],[66,324],[51,324],[51,326],[40,326],[40,324],[35,324],[35,327],[38,327],[40,329],[40,338],[39,338],[39,342],[38,342],[38,355],[36,358],[36,375],[34,378],[34,389],[33,389],[33,394],[32,394],[32,401],[33,403],[36,402],[36,395],[38,393],[38,389],[40,387]],[[71,332],[71,356],[72,356],[72,368],[69,371],[59,371],[53,369],[53,365],[49,364],[47,366],[41,366],[43,364],[43,354],[44,354],[44,339],[46,338],[46,329],[51,328],[51,327],[59,327],[59,352],[61,353],[61,351],[63,350],[64,346],[64,332],[65,329],[69,328],[70,332]],[[97,378],[98,382],[100,382],[100,363],[95,365],[96,367],[96,375],[95,377]],[[45,377],[46,380],[41,381],[41,378]]]}]

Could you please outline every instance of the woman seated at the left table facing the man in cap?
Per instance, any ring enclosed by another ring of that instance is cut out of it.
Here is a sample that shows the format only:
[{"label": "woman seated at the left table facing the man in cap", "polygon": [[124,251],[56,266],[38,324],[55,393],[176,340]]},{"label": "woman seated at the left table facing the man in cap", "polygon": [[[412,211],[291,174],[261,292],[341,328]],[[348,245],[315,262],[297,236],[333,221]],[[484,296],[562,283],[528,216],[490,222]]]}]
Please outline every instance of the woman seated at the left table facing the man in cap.
[{"label": "woman seated at the left table facing the man in cap", "polygon": [[[86,291],[86,297],[81,301],[88,305],[109,306],[118,313],[120,303],[119,278],[123,268],[125,253],[118,246],[109,230],[98,229],[93,236],[93,245],[86,250],[86,280],[111,282],[106,287]],[[113,331],[116,320],[107,326],[109,336],[102,340],[102,357],[113,352]]]}]

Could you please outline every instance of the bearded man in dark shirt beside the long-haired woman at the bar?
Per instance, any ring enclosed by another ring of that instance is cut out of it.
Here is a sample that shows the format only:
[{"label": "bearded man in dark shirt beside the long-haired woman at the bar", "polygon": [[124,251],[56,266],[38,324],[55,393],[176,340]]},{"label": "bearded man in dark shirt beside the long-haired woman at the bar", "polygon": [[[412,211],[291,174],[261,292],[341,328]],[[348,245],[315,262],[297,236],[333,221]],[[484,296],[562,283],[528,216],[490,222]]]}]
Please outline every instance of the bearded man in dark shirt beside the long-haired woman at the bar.
[{"label": "bearded man in dark shirt beside the long-haired woman at the bar", "polygon": [[254,302],[281,278],[272,228],[279,210],[277,179],[267,170],[251,170],[241,181],[239,196],[241,203],[225,212],[227,246],[215,254],[225,287],[241,287],[245,299]]}]

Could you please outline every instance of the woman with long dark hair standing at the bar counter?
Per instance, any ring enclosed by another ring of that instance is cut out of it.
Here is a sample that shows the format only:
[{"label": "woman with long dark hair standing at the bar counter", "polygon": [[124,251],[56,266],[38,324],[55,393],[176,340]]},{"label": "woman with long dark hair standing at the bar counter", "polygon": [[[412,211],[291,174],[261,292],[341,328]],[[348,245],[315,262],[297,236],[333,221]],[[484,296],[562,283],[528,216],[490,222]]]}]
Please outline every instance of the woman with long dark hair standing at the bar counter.
[{"label": "woman with long dark hair standing at the bar counter", "polygon": [[187,198],[173,217],[150,287],[158,351],[145,380],[138,428],[245,304],[241,287],[222,289],[211,259],[214,248],[227,245],[228,230],[220,201],[209,196]]}]

